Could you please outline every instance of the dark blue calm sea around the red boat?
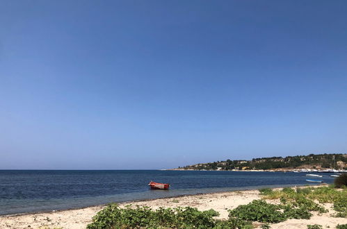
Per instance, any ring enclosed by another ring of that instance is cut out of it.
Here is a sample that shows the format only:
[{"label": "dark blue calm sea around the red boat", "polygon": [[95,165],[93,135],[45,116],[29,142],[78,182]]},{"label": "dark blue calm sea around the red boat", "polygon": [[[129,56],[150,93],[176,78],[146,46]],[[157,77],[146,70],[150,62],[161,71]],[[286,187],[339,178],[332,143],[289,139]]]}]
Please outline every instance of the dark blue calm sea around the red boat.
[{"label": "dark blue calm sea around the red boat", "polygon": [[[305,173],[240,171],[0,170],[0,215],[63,210],[111,202],[308,184]],[[332,183],[323,174],[324,183]],[[150,180],[170,183],[151,190]],[[312,183],[310,183],[312,185]]]}]

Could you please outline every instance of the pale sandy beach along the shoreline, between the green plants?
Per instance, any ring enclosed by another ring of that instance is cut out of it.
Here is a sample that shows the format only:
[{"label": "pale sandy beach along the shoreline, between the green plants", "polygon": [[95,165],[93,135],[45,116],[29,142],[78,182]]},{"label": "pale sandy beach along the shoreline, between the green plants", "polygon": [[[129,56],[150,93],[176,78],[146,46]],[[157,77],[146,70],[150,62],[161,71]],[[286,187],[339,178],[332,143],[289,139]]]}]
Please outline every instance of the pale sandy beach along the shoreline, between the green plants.
[{"label": "pale sandy beach along the shoreline, between the green plants", "polygon": [[[193,196],[179,196],[172,198],[160,198],[149,201],[136,201],[121,203],[120,206],[132,204],[149,206],[153,209],[158,207],[191,206],[199,210],[214,209],[220,213],[220,219],[227,219],[229,209],[239,205],[248,204],[253,200],[260,199],[258,190],[241,192],[222,192],[213,194],[198,194]],[[267,200],[268,201],[268,200]],[[277,203],[276,201],[268,201]],[[289,219],[282,223],[271,224],[271,228],[307,228],[309,224],[321,224],[324,228],[335,228],[337,224],[347,223],[345,218],[331,217],[334,214],[332,204],[324,204],[327,213],[318,215],[313,212],[311,219]],[[92,217],[102,210],[104,206],[85,207],[77,210],[63,210],[56,212],[42,212],[34,214],[22,214],[15,216],[0,217],[0,228],[86,228]],[[259,223],[260,226],[260,223]]]}]

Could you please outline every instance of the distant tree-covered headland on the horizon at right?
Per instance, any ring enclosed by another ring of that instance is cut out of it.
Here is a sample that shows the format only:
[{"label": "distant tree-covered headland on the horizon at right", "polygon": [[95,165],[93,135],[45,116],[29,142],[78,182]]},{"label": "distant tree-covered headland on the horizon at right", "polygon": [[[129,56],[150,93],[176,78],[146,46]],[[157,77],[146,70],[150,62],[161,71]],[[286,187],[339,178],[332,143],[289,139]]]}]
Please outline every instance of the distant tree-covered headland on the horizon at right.
[{"label": "distant tree-covered headland on the horizon at right", "polygon": [[310,154],[288,156],[286,158],[273,157],[273,158],[254,158],[252,160],[225,160],[211,163],[193,164],[186,167],[179,167],[179,169],[207,169],[222,170],[232,169],[281,169],[281,168],[297,168],[297,167],[311,167],[316,168],[330,168],[330,169],[347,169],[346,154]]}]

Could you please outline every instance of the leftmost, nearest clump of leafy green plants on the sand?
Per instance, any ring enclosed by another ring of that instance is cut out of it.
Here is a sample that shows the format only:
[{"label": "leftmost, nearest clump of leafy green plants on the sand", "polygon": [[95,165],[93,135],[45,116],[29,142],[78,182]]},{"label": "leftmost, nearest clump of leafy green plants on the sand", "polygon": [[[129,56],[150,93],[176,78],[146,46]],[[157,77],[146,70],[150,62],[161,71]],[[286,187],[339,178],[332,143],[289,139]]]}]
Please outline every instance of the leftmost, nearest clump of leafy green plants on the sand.
[{"label": "leftmost, nearest clump of leafy green plants on the sand", "polygon": [[194,207],[131,208],[128,205],[120,208],[111,204],[93,217],[88,229],[106,228],[252,228],[252,223],[240,219],[220,221],[213,219],[218,212],[214,210],[199,211]]}]

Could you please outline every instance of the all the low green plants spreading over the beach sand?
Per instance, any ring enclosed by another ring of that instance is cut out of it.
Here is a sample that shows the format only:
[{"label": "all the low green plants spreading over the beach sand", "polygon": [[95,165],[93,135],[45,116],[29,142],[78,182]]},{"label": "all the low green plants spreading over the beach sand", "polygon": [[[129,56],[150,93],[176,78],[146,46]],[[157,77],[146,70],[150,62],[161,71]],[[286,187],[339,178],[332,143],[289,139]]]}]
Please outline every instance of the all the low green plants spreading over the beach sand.
[{"label": "all the low green plants spreading over the beach sand", "polygon": [[[279,223],[287,219],[309,219],[312,212],[328,212],[319,203],[333,203],[336,217],[347,216],[347,189],[332,187],[284,188],[281,191],[260,189],[263,199],[228,210],[229,219],[218,220],[215,210],[199,211],[195,207],[124,208],[111,204],[93,217],[88,229],[107,228],[252,228],[252,222],[266,223],[261,228],[270,228],[268,223]],[[279,199],[279,204],[267,203],[264,199]],[[316,202],[318,203],[316,203]],[[307,228],[321,228],[308,225]],[[346,228],[340,225],[337,228]]]}]

